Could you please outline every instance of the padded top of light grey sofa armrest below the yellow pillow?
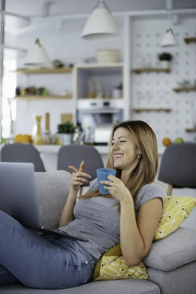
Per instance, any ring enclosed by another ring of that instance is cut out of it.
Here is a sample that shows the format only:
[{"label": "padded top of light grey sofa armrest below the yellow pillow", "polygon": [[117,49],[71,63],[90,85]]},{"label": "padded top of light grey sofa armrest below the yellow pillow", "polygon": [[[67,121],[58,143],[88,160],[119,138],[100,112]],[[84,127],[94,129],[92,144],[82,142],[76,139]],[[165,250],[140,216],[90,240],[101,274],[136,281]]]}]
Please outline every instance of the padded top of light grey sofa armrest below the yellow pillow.
[{"label": "padded top of light grey sofa armrest below the yellow pillow", "polygon": [[196,230],[179,227],[166,238],[154,241],[143,259],[147,267],[174,270],[196,261]]}]

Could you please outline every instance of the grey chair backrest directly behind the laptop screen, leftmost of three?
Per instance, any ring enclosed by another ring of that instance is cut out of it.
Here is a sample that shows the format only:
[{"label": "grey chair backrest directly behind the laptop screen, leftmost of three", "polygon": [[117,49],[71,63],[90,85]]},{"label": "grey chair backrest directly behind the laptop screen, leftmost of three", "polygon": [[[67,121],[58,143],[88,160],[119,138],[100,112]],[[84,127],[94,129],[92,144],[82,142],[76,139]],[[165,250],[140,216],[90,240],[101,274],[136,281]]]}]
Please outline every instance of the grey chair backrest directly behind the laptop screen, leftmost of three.
[{"label": "grey chair backrest directly behind the laptop screen, leftmost of three", "polygon": [[8,144],[1,149],[1,162],[32,162],[35,172],[46,172],[38,150],[29,144]]}]

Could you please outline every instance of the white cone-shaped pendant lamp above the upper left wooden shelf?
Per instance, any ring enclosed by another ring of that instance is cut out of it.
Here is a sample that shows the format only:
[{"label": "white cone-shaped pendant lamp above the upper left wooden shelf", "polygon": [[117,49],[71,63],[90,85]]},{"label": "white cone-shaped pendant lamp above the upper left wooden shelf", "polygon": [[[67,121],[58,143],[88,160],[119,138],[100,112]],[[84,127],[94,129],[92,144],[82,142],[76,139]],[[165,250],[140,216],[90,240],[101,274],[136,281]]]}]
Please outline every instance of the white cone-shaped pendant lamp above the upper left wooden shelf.
[{"label": "white cone-shaped pendant lamp above the upper left wooden shelf", "polygon": [[39,66],[47,64],[51,64],[51,61],[40,40],[37,38],[34,46],[26,54],[25,65]]}]

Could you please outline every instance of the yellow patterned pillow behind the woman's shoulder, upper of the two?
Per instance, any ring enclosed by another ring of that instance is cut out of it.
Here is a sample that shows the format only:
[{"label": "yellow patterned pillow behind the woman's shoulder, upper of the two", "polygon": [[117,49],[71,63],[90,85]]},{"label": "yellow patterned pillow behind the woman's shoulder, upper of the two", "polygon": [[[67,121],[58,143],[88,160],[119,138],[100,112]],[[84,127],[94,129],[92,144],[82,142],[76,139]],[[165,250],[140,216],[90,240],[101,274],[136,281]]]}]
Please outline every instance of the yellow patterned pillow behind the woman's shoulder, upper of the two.
[{"label": "yellow patterned pillow behind the woman's shoulder, upper of the two", "polygon": [[163,211],[154,241],[174,232],[190,215],[196,206],[196,198],[187,196],[164,196]]}]

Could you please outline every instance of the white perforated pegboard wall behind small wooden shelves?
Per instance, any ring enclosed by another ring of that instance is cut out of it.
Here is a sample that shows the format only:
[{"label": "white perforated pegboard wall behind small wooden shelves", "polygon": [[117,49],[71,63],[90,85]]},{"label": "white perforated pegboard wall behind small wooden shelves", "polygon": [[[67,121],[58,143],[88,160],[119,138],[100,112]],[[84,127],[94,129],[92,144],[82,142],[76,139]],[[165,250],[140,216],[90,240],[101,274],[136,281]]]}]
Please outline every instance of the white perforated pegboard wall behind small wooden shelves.
[{"label": "white perforated pegboard wall behind small wooden shelves", "polygon": [[[160,41],[169,28],[168,21],[131,22],[131,67],[158,67],[158,53],[170,52],[173,56],[171,73],[132,73],[131,76],[131,119],[146,121],[157,136],[158,145],[164,137],[182,137],[193,141],[196,133],[187,133],[193,128],[191,107],[196,101],[196,92],[175,93],[178,81],[188,79],[196,83],[196,44],[187,45],[185,37],[196,36],[196,21],[183,21],[173,26],[179,46],[161,48]],[[172,112],[133,112],[134,108],[171,108]]]}]

